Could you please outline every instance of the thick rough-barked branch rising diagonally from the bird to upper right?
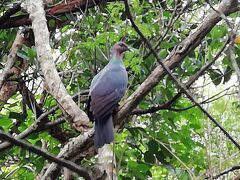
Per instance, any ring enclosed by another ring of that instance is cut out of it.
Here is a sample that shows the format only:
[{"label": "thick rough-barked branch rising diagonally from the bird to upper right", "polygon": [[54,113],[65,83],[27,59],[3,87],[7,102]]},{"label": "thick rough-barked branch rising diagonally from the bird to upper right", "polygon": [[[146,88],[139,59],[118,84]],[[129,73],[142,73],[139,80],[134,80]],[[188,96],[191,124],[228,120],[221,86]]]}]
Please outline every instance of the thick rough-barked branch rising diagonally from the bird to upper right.
[{"label": "thick rough-barked branch rising diagonally from the bird to upper right", "polygon": [[[237,0],[223,0],[219,6],[218,11],[225,15],[236,12],[238,10]],[[174,69],[179,66],[184,57],[189,52],[194,50],[207,35],[208,32],[221,20],[221,17],[212,11],[203,21],[203,23],[196,29],[196,31],[190,34],[184,41],[182,41],[171,54],[165,59],[164,64],[169,69]],[[126,103],[120,108],[115,123],[120,124],[122,120],[129,114],[134,108],[137,107],[139,102],[159,83],[159,81],[166,75],[166,72],[161,65],[158,65],[147,79],[137,88],[137,90],[128,98]]]}]

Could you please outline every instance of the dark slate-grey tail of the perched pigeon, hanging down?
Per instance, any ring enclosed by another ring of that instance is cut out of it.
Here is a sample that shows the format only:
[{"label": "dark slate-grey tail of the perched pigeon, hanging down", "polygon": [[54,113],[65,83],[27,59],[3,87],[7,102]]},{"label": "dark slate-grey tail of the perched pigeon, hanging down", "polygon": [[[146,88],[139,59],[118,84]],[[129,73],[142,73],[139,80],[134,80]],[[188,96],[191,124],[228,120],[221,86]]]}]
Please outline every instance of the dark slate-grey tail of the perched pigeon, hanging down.
[{"label": "dark slate-grey tail of the perched pigeon, hanging down", "polygon": [[95,147],[101,148],[104,144],[110,144],[113,139],[114,134],[112,116],[109,116],[106,120],[95,120]]}]

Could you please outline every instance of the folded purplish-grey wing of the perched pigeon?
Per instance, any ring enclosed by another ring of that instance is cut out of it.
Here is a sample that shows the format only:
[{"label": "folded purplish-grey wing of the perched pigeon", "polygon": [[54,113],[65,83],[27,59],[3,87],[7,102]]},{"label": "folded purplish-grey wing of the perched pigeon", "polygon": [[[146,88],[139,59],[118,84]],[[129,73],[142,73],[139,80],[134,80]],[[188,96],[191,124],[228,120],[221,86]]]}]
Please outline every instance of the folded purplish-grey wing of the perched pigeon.
[{"label": "folded purplish-grey wing of the perched pigeon", "polygon": [[93,112],[94,118],[102,119],[110,115],[117,107],[125,90],[126,85],[116,82],[111,73],[101,76],[90,93],[90,111]]}]

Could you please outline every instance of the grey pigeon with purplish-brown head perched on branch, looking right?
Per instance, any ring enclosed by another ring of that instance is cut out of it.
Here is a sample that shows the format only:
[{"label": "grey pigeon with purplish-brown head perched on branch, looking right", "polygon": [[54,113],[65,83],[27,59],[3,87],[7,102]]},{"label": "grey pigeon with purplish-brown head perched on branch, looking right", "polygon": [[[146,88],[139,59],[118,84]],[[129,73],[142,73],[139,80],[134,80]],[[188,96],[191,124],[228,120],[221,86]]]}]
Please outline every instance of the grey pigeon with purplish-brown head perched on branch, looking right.
[{"label": "grey pigeon with purplish-brown head perched on branch, looking right", "polygon": [[123,54],[129,50],[123,40],[114,44],[108,64],[92,79],[87,115],[95,122],[96,148],[101,148],[114,140],[112,114],[127,90],[128,74],[123,63]]}]

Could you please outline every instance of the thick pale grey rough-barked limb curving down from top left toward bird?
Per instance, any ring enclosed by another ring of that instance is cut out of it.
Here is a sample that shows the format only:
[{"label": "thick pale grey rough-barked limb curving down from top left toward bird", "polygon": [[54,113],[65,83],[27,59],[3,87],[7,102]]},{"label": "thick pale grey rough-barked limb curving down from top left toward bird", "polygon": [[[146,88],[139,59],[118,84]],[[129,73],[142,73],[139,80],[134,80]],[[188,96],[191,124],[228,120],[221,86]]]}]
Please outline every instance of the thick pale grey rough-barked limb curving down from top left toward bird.
[{"label": "thick pale grey rough-barked limb curving down from top left toward bird", "polygon": [[79,109],[67,93],[54,65],[43,2],[26,0],[21,6],[30,14],[29,17],[32,21],[37,59],[45,78],[45,87],[66,113],[67,119],[72,127],[78,131],[82,131],[84,127],[88,126],[89,120],[87,115]]}]

